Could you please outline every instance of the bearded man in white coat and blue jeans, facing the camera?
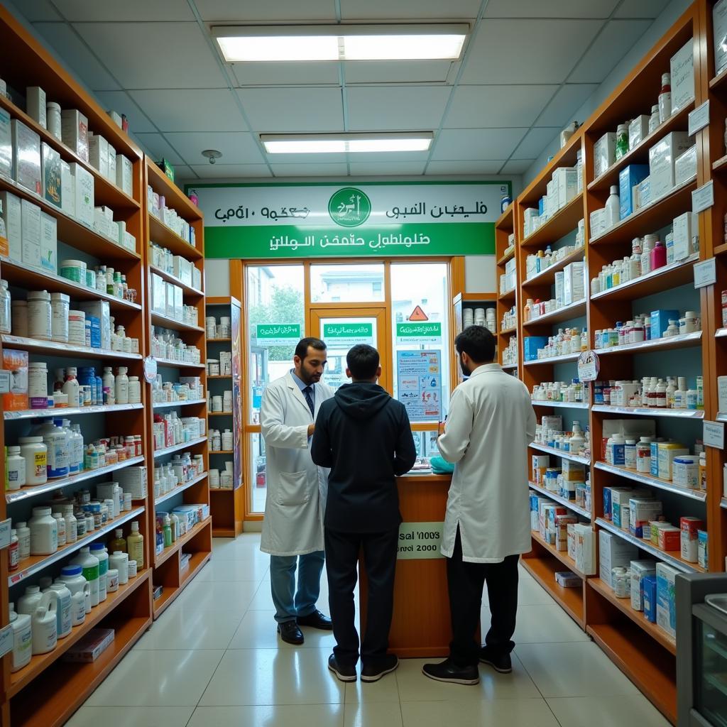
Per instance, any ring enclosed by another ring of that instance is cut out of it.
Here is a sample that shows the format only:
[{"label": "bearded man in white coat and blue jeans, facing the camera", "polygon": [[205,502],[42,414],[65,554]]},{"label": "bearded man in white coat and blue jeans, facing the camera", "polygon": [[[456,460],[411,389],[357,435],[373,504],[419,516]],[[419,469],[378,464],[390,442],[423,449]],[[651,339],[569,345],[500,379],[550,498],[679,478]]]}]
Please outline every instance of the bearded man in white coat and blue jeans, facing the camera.
[{"label": "bearded man in white coat and blue jeans, facing the camera", "polygon": [[[316,608],[324,565],[323,515],[329,470],[310,459],[310,438],[321,403],[332,397],[321,383],[326,344],[298,342],[294,368],[265,388],[260,428],[265,439],[265,520],[260,550],[270,553],[270,587],[278,633],[303,643],[301,626],[331,630],[331,619]],[[297,587],[296,587],[297,570]]]}]

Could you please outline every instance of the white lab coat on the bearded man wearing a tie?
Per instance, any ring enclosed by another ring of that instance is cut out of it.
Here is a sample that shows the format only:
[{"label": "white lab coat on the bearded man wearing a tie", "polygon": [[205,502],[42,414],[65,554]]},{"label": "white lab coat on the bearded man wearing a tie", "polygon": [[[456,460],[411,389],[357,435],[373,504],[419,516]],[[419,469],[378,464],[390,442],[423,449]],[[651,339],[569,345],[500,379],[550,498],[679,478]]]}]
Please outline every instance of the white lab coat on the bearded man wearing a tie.
[{"label": "white lab coat on the bearded man wearing a tie", "polygon": [[[316,416],[332,397],[326,384],[313,385]],[[265,439],[265,520],[260,550],[270,555],[305,555],[324,550],[323,516],[329,470],[310,459],[308,425],[313,424],[305,396],[289,372],[262,394],[260,428]]]}]

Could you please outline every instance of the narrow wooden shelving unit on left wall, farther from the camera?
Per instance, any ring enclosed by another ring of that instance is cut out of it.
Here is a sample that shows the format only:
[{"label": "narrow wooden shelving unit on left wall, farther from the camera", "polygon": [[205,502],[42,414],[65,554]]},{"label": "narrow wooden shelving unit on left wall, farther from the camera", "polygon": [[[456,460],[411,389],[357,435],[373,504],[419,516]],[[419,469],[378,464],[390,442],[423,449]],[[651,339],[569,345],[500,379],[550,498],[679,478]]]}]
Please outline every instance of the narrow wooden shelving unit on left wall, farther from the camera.
[{"label": "narrow wooden shelving unit on left wall, farther from the camera", "polygon": [[[174,333],[190,346],[195,346],[200,351],[200,363],[190,364],[183,361],[174,361],[168,358],[156,358],[157,371],[161,374],[162,381],[176,382],[180,377],[199,377],[206,396],[206,339],[204,329],[205,297],[204,297],[204,220],[201,212],[190,200],[177,188],[174,183],[158,169],[158,166],[145,160],[143,190],[144,197],[147,196],[147,186],[160,196],[164,196],[166,206],[174,209],[194,229],[196,244],[192,245],[184,238],[177,235],[174,230],[165,225],[161,220],[151,214],[148,206],[145,206],[144,223],[144,260],[147,271],[145,284],[150,289],[151,276],[161,276],[167,283],[180,286],[182,289],[182,300],[184,305],[193,306],[197,310],[196,324],[182,323],[169,316],[151,310],[149,303],[145,319],[145,337],[148,350],[152,350],[152,337],[155,329],[172,330]],[[173,254],[185,257],[193,263],[200,271],[202,285],[201,289],[182,284],[176,277],[170,275],[157,266],[151,265],[151,243],[156,243],[171,250]],[[151,398],[151,391],[148,390],[148,398]],[[174,401],[148,406],[146,437],[148,451],[150,451],[150,466],[148,467],[148,529],[150,533],[149,554],[152,563],[151,582],[153,587],[162,586],[162,597],[153,602],[152,614],[156,619],[169,606],[182,589],[190,581],[189,569],[182,571],[181,554],[184,548],[193,553],[196,559],[195,573],[204,565],[212,555],[212,519],[207,517],[201,523],[184,536],[177,539],[174,545],[164,550],[163,553],[156,553],[156,514],[168,512],[174,507],[183,504],[204,504],[209,507],[209,454],[208,439],[204,436],[193,438],[188,442],[154,450],[153,422],[155,415],[163,416],[170,411],[176,411],[180,417],[192,416],[204,419],[206,423],[207,400],[206,398],[196,401]],[[190,451],[191,454],[201,454],[204,462],[204,473],[197,475],[193,480],[180,482],[174,490],[161,497],[155,497],[154,493],[154,468],[164,465],[170,461],[174,454]],[[186,552],[186,550],[185,550]]]}]

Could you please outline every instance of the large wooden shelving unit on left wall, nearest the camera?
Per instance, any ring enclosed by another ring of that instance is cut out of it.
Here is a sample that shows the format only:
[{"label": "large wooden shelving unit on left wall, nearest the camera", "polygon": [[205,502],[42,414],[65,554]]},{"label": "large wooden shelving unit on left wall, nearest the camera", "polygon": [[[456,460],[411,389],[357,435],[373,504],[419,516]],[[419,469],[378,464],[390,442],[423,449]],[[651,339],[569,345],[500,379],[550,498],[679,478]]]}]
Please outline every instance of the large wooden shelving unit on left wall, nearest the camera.
[{"label": "large wooden shelving unit on left wall, nearest the camera", "polygon": [[[129,288],[137,292],[136,300],[123,300],[105,292],[96,292],[89,287],[62,278],[51,270],[32,268],[27,262],[0,258],[0,277],[7,280],[13,300],[25,299],[33,290],[60,292],[71,297],[71,308],[75,301],[101,300],[108,302],[111,316],[116,325],[123,325],[128,337],[139,340],[139,353],[100,350],[66,343],[34,340],[12,334],[0,337],[0,349],[14,349],[28,352],[30,361],[46,361],[48,373],[53,369],[69,366],[95,366],[100,374],[102,366],[126,366],[129,376],[143,377],[142,357],[145,348],[145,273],[142,266],[143,225],[145,195],[143,193],[143,156],[128,135],[114,124],[111,117],[92,97],[81,88],[55,59],[17,23],[4,7],[0,7],[0,76],[7,81],[11,97],[0,96],[0,108],[12,119],[19,119],[39,134],[41,142],[49,145],[68,164],[78,164],[89,172],[94,180],[94,204],[106,205],[113,211],[114,220],[124,220],[126,230],[136,239],[136,250],[132,251],[115,244],[97,234],[74,217],[65,214],[59,207],[50,204],[36,193],[26,190],[14,180],[0,177],[0,190],[31,201],[44,212],[55,217],[59,251],[57,260],[66,257],[83,257],[89,267],[109,265],[126,276]],[[114,182],[103,177],[86,161],[25,113],[22,93],[29,86],[40,86],[47,94],[47,100],[61,103],[63,108],[77,108],[89,119],[89,130],[101,134],[116,149],[132,162],[133,191],[127,195]],[[63,244],[63,245],[62,245]],[[78,255],[73,253],[79,251]],[[50,382],[52,389],[52,379]],[[71,419],[81,427],[84,442],[89,443],[105,435],[145,435],[145,411],[148,409],[148,393],[142,388],[140,403],[113,406],[79,406],[65,409],[33,411],[3,411],[3,426],[0,427],[0,447],[17,443],[17,438],[28,435],[34,421],[57,417]],[[0,518],[11,518],[13,526],[17,521],[27,521],[31,508],[47,502],[49,497],[73,494],[83,488],[95,494],[95,486],[108,475],[131,466],[150,466],[150,451],[146,442],[143,454],[125,459],[118,464],[84,470],[67,478],[49,480],[44,485],[23,487],[17,491],[7,490],[0,501]],[[113,475],[112,475],[113,476]],[[9,601],[17,601],[28,585],[35,585],[44,576],[57,577],[60,568],[67,564],[84,545],[91,542],[108,542],[113,530],[120,528],[128,535],[133,521],[139,523],[140,531],[148,544],[148,498],[134,501],[132,510],[121,512],[119,518],[105,523],[101,528],[81,536],[76,542],[61,546],[56,553],[47,556],[31,556],[20,561],[17,571],[8,569],[8,558],[0,558],[0,578],[5,587],[0,591],[0,625],[9,622]],[[145,558],[146,558],[145,554]],[[10,672],[12,656],[3,659],[0,692],[0,723],[12,726],[60,726],[71,717],[100,681],[108,675],[126,651],[140,638],[151,623],[150,574],[147,569],[132,579],[128,585],[119,587],[115,593],[92,609],[86,621],[75,627],[70,635],[58,642],[53,651],[33,656],[30,664],[18,672]],[[113,627],[115,639],[93,664],[66,664],[63,654],[68,651],[92,627]]]}]

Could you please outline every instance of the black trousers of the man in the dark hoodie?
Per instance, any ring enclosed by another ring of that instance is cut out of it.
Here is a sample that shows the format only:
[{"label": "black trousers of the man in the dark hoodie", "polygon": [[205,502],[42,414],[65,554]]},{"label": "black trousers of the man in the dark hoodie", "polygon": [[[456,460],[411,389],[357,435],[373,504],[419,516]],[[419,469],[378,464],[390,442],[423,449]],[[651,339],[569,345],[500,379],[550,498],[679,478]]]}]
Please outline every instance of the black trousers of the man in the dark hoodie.
[{"label": "black trousers of the man in the dark hoodie", "polygon": [[361,662],[377,665],[386,655],[394,606],[394,573],[398,527],[382,533],[347,533],[325,530],[326,573],[329,606],[336,638],[334,654],[342,664],[358,662],[358,632],[353,589],[356,587],[358,554],[364,551],[368,580],[366,632],[361,640]]}]

